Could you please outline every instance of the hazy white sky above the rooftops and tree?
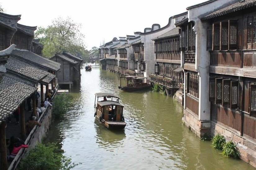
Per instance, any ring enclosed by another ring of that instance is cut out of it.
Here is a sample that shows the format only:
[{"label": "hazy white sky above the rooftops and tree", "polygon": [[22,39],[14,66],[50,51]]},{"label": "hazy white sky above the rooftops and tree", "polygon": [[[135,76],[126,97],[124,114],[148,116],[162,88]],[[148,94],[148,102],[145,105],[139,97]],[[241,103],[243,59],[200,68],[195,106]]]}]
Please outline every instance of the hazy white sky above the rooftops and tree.
[{"label": "hazy white sky above the rooftops and tree", "polygon": [[[186,12],[186,7],[206,0],[3,0],[5,13],[21,15],[18,23],[47,27],[58,16],[69,16],[82,24],[85,44],[90,50],[102,40],[134,35],[158,23],[167,25],[169,17]],[[118,38],[119,39],[119,38]]]}]

